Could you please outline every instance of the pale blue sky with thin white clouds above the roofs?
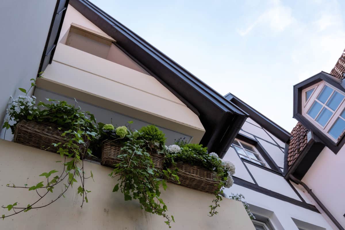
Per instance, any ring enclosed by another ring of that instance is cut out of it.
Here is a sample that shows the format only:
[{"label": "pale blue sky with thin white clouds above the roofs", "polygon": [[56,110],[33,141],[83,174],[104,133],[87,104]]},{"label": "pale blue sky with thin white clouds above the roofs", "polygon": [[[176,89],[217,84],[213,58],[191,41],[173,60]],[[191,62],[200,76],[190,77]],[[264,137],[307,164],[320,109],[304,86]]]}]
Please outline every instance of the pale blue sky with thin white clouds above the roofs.
[{"label": "pale blue sky with thin white clouds above the roofs", "polygon": [[91,2],[288,132],[293,85],[330,72],[345,48],[342,0]]}]

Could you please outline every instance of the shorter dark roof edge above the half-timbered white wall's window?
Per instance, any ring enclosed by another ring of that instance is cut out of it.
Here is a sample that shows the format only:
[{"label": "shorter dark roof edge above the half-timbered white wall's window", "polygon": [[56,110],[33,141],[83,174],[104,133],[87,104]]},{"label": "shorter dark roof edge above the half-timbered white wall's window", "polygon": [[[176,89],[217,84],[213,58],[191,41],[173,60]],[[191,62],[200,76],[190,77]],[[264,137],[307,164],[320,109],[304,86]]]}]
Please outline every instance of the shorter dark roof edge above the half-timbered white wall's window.
[{"label": "shorter dark roof edge above the half-timbered white wall's window", "polygon": [[290,133],[280,127],[278,124],[272,120],[265,117],[262,113],[255,110],[253,107],[249,106],[247,103],[236,97],[234,94],[228,93],[224,96],[229,101],[235,103],[240,109],[247,112],[254,121],[264,127],[267,131],[274,134],[278,139],[282,140],[284,143],[287,143],[290,139]]}]

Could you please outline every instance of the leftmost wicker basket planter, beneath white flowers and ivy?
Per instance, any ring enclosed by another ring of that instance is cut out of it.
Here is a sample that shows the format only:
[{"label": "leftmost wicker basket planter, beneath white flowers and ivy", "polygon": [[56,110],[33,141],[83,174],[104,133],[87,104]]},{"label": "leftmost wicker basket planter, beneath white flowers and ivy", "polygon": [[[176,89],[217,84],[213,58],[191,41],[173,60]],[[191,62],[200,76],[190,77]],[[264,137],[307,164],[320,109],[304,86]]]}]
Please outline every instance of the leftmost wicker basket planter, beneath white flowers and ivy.
[{"label": "leftmost wicker basket planter, beneath white flowers and ivy", "polygon": [[[54,123],[22,120],[17,123],[14,130],[14,142],[57,153],[60,147],[54,147],[52,143],[67,143],[66,137],[61,137],[64,131],[59,130]],[[89,141],[84,141],[85,144],[79,144],[82,158],[84,158],[90,145]]]}]

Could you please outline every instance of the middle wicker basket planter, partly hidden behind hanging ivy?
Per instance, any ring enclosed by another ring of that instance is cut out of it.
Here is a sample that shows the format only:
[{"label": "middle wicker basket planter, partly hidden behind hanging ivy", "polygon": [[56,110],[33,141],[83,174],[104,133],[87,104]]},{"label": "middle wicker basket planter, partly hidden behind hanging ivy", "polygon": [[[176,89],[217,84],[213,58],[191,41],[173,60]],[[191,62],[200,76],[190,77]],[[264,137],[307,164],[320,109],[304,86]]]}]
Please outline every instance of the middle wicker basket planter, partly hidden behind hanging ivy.
[{"label": "middle wicker basket planter, partly hidden behind hanging ivy", "polygon": [[[114,164],[118,164],[121,160],[118,156],[121,153],[121,148],[124,147],[123,144],[114,141],[106,141],[102,146],[102,160],[101,164],[114,168]],[[157,154],[151,151],[147,151],[155,165],[155,169],[162,171],[164,165],[164,157],[161,154]]]}]

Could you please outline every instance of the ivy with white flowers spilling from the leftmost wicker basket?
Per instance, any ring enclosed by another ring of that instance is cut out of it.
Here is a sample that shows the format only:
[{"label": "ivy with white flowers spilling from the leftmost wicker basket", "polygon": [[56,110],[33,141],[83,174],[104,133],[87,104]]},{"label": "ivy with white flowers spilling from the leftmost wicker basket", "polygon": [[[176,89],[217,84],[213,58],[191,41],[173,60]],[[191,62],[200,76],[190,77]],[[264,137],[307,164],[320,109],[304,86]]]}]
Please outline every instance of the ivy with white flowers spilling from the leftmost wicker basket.
[{"label": "ivy with white flowers spilling from the leftmost wicker basket", "polygon": [[[41,73],[39,75],[39,78],[40,77],[42,77]],[[36,86],[36,80],[31,80],[31,87]],[[27,212],[31,209],[38,209],[48,206],[49,204],[58,200],[60,197],[65,197],[65,192],[72,187],[74,183],[78,182],[79,179],[81,185],[78,187],[77,191],[82,197],[81,207],[83,206],[84,202],[88,202],[87,194],[91,192],[85,189],[85,180],[89,178],[93,179],[93,174],[92,171],[90,171],[90,176],[85,176],[85,168],[83,163],[83,158],[85,156],[83,156],[81,149],[83,147],[87,147],[86,142],[92,141],[97,136],[97,133],[95,132],[97,129],[95,126],[95,117],[89,112],[82,111],[80,107],[76,108],[76,104],[72,106],[66,101],[47,99],[51,103],[39,102],[36,106],[36,97],[27,96],[30,89],[25,90],[23,88],[19,88],[19,90],[26,95],[19,96],[15,100],[10,98],[10,106],[7,112],[8,119],[5,121],[3,128],[11,128],[12,133],[14,133],[16,125],[21,120],[33,120],[38,122],[43,121],[57,124],[59,127],[58,129],[63,131],[61,136],[64,137],[65,141],[63,143],[59,142],[51,144],[52,146],[58,147],[57,153],[59,153],[63,158],[63,162],[57,161],[57,163],[61,163],[63,169],[57,176],[54,176],[59,172],[56,169],[41,173],[39,176],[44,180],[31,186],[28,186],[28,184],[24,184],[24,186],[7,184],[7,187],[9,188],[36,191],[39,198],[24,207],[18,207],[18,202],[8,204],[7,206],[1,206],[8,211],[13,210],[14,212],[12,214],[2,214],[3,219],[21,212]],[[14,121],[15,123],[10,124],[12,123],[10,121]],[[87,149],[87,154],[92,155],[90,149]],[[62,191],[58,194],[56,199],[53,199],[44,205],[37,205],[37,203],[49,192],[53,193],[53,191],[55,191],[55,187],[58,184],[62,184],[62,181],[65,179],[67,179],[67,184],[63,183]]]}]

